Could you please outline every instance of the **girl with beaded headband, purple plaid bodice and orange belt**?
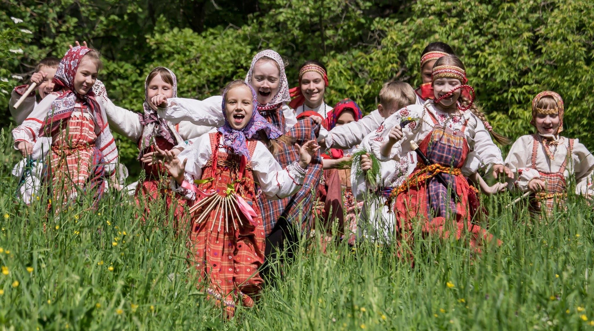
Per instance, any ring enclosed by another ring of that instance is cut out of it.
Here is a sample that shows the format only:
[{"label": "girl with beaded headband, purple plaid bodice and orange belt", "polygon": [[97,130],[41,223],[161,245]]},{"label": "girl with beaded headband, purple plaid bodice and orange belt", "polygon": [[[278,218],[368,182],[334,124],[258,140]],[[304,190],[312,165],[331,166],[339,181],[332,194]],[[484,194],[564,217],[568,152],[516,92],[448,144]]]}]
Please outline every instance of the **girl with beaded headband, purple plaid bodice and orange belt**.
[{"label": "girl with beaded headband, purple plaid bodice and orange belt", "polygon": [[[482,119],[470,111],[474,93],[466,85],[462,62],[456,56],[444,56],[435,62],[432,77],[435,99],[391,115],[371,149],[382,161],[399,160],[410,150],[419,150],[428,159],[421,162],[420,158],[415,171],[390,194],[396,200],[399,245],[412,244],[415,223],[421,222],[423,235],[446,238],[456,234],[457,239],[468,235],[470,246],[479,251],[482,241],[492,235],[474,223],[470,200],[475,192],[465,175],[474,174],[481,163],[491,167],[495,176],[513,173],[503,165],[501,150]],[[462,89],[470,99],[463,98]]]}]

